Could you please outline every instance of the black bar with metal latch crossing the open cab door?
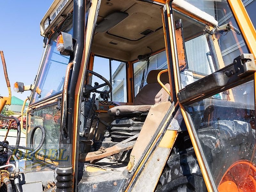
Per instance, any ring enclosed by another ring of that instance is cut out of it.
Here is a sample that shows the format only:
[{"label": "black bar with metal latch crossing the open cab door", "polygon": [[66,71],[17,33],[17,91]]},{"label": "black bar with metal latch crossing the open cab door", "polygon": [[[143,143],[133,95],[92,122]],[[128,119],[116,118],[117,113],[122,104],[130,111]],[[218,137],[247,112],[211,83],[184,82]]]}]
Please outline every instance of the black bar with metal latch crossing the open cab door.
[{"label": "black bar with metal latch crossing the open cab door", "polygon": [[237,82],[245,83],[256,71],[254,62],[253,55],[249,53],[236,57],[230,65],[187,85],[178,93],[180,103],[188,105],[217,94],[221,90],[232,88]]}]

